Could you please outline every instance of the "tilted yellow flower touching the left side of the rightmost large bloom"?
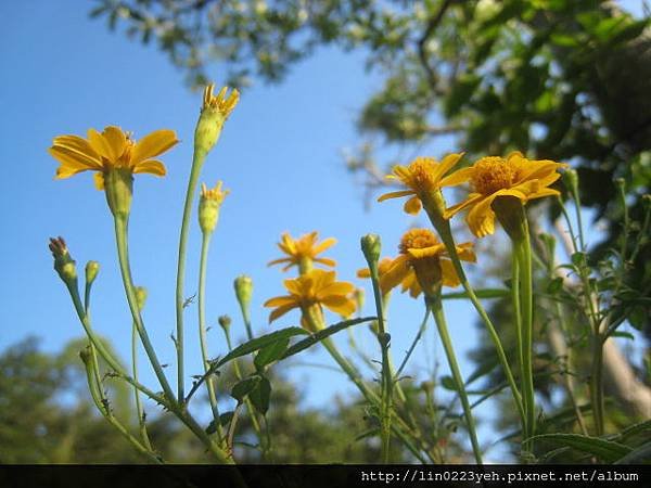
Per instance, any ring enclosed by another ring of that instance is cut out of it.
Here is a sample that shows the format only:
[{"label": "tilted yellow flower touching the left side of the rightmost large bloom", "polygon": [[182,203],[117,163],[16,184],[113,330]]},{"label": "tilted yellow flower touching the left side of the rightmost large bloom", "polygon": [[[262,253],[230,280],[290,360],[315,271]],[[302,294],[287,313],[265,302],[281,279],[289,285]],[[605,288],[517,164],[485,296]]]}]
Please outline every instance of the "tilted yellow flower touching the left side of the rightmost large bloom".
[{"label": "tilted yellow flower touching the left side of the rightmost large bloom", "polygon": [[417,157],[409,166],[396,165],[393,168],[393,175],[386,178],[399,180],[408,190],[385,193],[378,198],[378,202],[384,202],[388,198],[399,198],[410,196],[405,203],[404,209],[407,214],[418,214],[423,201],[435,197],[441,190],[444,175],[449,171],[461,159],[463,154],[448,154],[441,163],[432,157]]}]

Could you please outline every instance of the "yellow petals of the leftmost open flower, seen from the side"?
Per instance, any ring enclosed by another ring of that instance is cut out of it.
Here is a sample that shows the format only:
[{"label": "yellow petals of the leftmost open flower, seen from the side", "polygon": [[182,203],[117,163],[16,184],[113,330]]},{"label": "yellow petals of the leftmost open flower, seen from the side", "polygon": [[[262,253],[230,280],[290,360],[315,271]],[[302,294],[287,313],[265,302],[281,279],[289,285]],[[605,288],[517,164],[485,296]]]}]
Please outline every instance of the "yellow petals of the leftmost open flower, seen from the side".
[{"label": "yellow petals of the leftmost open flower, seen from the side", "polygon": [[56,168],[56,179],[69,178],[81,171],[97,171],[95,187],[103,190],[104,175],[116,168],[128,169],[131,174],[165,176],[163,163],[153,158],[177,142],[174,130],[156,130],[136,142],[129,132],[108,126],[102,132],[89,129],[88,139],[58,136],[48,151],[61,163]]}]

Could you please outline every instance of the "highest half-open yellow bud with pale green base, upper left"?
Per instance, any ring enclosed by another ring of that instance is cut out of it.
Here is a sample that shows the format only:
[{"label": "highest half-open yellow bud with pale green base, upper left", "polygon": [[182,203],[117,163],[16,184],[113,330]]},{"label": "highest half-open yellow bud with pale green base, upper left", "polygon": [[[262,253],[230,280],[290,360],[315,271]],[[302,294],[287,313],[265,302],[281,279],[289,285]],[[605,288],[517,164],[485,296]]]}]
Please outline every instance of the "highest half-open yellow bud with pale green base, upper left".
[{"label": "highest half-open yellow bud with pale green base, upper left", "polygon": [[217,143],[224,123],[240,100],[238,90],[226,98],[228,87],[224,87],[216,97],[213,95],[214,89],[215,85],[210,84],[204,90],[203,106],[194,130],[194,152],[197,154],[207,154]]}]

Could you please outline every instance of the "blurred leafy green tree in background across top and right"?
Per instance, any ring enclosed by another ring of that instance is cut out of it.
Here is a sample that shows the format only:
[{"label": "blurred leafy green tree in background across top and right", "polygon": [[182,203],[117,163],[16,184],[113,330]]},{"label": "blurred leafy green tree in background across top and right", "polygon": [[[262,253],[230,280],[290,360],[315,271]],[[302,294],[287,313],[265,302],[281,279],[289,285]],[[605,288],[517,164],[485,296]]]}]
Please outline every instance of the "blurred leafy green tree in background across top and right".
[{"label": "blurred leafy green tree in background across top and right", "polygon": [[[241,89],[254,78],[282,81],[320,46],[360,50],[367,68],[383,79],[358,114],[361,142],[346,157],[350,171],[363,176],[367,196],[386,184],[383,176],[392,164],[405,163],[387,156],[392,151],[418,153],[452,136],[467,151],[465,160],[519,150],[532,158],[571,163],[580,178],[584,209],[604,227],[602,241],[590,249],[595,266],[623,240],[615,179],[625,180],[631,221],[643,218],[642,195],[651,182],[648,5],[643,18],[636,18],[617,2],[602,0],[99,0],[90,15],[112,29],[123,26],[133,39],[157,42],[186,72],[190,87],[205,84],[214,65]],[[376,141],[382,142],[378,151]],[[537,211],[548,217],[550,229],[560,206]],[[561,256],[569,257],[572,245],[558,228],[557,233],[565,249]],[[636,296],[649,296],[650,262],[646,245],[625,264],[625,284]],[[538,277],[538,290],[549,279]],[[651,338],[648,307],[620,305],[629,325]],[[505,301],[493,309],[509,323]],[[574,332],[559,341],[559,325],[538,314],[537,385],[548,412],[567,406],[566,396],[553,395],[564,391],[566,374],[586,381],[587,373],[578,372],[588,361],[586,337],[576,317],[566,316]],[[569,347],[575,349],[576,371],[559,365]],[[648,357],[648,342],[639,347]],[[474,357],[490,364],[492,355],[487,347]],[[615,341],[605,343],[614,423],[622,415],[651,416],[649,372],[630,359],[639,358],[626,358]],[[489,378],[488,391],[502,381],[497,372]],[[505,422],[513,425],[512,419]]]}]

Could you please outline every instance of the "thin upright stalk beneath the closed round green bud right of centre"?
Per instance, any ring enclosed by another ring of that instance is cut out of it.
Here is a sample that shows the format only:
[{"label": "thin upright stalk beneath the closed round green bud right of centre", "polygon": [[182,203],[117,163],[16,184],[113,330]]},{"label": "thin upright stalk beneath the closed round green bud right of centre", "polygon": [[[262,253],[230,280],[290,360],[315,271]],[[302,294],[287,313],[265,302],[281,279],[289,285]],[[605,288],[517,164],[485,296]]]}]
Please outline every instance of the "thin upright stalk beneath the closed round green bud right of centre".
[{"label": "thin upright stalk beneath the closed round green bud right of centre", "polygon": [[382,292],[380,291],[380,278],[378,272],[378,261],[369,259],[369,269],[371,272],[371,283],[373,284],[373,296],[375,298],[375,311],[378,313],[378,342],[382,349],[382,382],[381,382],[381,414],[380,424],[382,433],[382,462],[390,462],[391,453],[391,412],[393,409],[393,374],[390,360],[391,336],[386,332],[384,323],[384,310],[382,307]]}]

